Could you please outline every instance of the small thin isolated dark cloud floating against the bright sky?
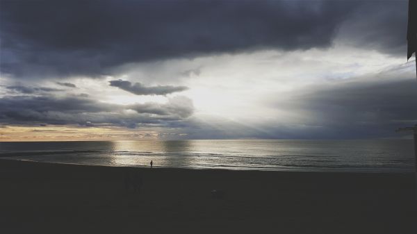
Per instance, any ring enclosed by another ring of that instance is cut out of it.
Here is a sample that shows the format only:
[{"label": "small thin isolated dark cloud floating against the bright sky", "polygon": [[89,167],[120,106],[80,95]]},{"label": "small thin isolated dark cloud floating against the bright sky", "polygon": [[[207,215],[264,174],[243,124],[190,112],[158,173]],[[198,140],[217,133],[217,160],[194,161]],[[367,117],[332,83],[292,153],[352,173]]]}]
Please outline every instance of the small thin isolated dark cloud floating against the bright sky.
[{"label": "small thin isolated dark cloud floating against the bright sky", "polygon": [[185,86],[172,86],[172,85],[158,85],[158,86],[144,86],[141,83],[135,83],[132,85],[130,81],[109,81],[110,86],[119,87],[122,90],[131,92],[136,95],[166,95],[173,92],[181,92],[188,90]]}]

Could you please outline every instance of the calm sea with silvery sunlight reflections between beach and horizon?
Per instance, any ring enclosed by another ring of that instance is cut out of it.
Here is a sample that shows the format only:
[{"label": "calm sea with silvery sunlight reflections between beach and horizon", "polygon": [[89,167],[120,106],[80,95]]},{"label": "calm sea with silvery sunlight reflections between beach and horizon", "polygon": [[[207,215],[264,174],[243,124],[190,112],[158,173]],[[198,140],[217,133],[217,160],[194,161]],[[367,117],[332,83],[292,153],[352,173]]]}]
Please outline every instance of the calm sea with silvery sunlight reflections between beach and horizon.
[{"label": "calm sea with silvery sunlight reflections between beach and horizon", "polygon": [[0,142],[0,157],[87,165],[413,172],[411,140]]}]

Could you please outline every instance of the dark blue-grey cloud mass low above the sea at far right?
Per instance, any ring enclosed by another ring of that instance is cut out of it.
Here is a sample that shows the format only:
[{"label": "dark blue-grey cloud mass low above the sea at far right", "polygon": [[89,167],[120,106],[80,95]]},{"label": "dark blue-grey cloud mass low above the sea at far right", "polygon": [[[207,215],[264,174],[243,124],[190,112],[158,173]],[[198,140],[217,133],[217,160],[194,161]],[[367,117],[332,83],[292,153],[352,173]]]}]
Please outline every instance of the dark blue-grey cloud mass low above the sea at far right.
[{"label": "dark blue-grey cloud mass low above the sea at far right", "polygon": [[417,119],[416,81],[353,83],[302,97],[304,109],[321,112],[325,124],[379,124]]}]

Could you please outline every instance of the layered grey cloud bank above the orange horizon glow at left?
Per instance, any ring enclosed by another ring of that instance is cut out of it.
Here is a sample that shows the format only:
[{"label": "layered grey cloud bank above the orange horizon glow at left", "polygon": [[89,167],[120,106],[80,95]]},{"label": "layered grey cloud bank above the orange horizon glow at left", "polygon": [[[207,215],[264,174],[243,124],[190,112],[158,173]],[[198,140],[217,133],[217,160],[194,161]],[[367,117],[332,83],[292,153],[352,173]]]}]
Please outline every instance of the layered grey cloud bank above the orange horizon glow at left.
[{"label": "layered grey cloud bank above the orange horizon glow at left", "polygon": [[170,99],[165,104],[142,105],[146,108],[135,108],[136,113],[127,113],[127,109],[133,108],[101,103],[86,97],[6,96],[0,98],[0,123],[80,124],[133,128],[143,124],[169,126],[170,122],[182,121],[193,113],[193,104],[185,97]]}]

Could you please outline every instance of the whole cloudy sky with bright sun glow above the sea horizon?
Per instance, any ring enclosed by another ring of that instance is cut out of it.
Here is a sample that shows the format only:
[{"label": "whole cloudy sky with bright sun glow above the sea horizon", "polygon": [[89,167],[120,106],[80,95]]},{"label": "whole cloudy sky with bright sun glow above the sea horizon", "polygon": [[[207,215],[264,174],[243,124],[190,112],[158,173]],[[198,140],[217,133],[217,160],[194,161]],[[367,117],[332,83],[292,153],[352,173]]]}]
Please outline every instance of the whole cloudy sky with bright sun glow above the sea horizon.
[{"label": "whole cloudy sky with bright sun glow above the sea horizon", "polygon": [[0,0],[0,141],[404,137],[407,4]]}]

